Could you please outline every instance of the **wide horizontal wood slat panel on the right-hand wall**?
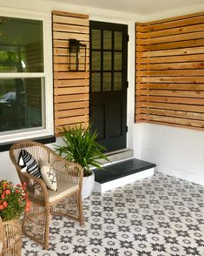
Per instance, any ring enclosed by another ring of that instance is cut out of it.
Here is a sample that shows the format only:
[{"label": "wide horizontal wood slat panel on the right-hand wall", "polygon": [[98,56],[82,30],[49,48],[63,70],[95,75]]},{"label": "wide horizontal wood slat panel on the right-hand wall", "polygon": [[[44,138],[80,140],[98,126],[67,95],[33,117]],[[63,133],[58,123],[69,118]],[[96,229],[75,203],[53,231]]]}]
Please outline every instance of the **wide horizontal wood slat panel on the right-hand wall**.
[{"label": "wide horizontal wood slat panel on the right-hand wall", "polygon": [[204,12],[135,30],[135,122],[204,130]]}]

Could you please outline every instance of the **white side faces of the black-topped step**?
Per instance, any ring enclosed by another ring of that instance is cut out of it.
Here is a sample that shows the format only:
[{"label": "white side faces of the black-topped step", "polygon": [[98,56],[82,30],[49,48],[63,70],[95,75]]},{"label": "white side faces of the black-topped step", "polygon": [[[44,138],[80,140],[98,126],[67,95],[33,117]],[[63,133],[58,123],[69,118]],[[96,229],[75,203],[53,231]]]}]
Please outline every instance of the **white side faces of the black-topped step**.
[{"label": "white side faces of the black-topped step", "polygon": [[136,172],[134,174],[130,174],[128,176],[125,176],[125,177],[122,177],[119,179],[114,179],[114,180],[111,180],[109,182],[105,182],[102,184],[95,181],[94,191],[106,192],[106,191],[115,189],[116,187],[132,183],[136,180],[145,179],[150,176],[153,176],[154,172],[155,172],[155,168],[150,168],[148,170]]}]

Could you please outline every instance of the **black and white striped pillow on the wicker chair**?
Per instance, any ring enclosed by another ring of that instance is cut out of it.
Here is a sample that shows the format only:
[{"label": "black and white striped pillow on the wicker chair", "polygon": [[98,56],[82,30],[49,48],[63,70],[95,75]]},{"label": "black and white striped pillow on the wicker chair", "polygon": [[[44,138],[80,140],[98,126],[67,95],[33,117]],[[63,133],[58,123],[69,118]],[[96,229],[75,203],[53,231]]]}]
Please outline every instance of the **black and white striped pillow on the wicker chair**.
[{"label": "black and white striped pillow on the wicker chair", "polygon": [[36,160],[26,150],[21,150],[18,157],[18,165],[22,168],[26,167],[27,172],[36,178],[42,179],[39,165],[37,165]]}]

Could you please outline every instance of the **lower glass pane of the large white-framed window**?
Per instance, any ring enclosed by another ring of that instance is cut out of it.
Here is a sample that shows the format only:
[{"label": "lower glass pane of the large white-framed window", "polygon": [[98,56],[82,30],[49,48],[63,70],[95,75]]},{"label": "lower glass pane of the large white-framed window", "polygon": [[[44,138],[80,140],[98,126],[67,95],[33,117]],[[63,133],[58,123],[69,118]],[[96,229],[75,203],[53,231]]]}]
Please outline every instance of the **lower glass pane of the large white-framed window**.
[{"label": "lower glass pane of the large white-framed window", "polygon": [[42,79],[0,80],[0,131],[42,127]]}]

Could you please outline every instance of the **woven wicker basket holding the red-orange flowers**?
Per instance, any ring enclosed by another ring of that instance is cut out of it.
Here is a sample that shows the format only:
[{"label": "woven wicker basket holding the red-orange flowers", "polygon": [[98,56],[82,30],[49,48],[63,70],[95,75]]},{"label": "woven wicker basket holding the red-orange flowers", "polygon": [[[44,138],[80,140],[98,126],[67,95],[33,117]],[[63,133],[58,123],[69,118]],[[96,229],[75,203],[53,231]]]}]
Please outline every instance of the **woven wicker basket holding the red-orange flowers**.
[{"label": "woven wicker basket holding the red-orange flowers", "polygon": [[3,221],[3,256],[21,256],[22,225],[19,219]]}]

